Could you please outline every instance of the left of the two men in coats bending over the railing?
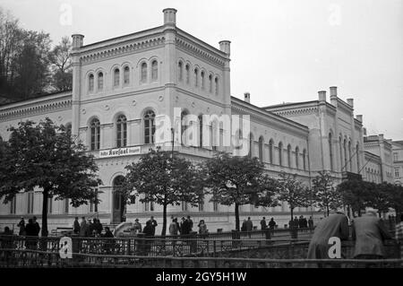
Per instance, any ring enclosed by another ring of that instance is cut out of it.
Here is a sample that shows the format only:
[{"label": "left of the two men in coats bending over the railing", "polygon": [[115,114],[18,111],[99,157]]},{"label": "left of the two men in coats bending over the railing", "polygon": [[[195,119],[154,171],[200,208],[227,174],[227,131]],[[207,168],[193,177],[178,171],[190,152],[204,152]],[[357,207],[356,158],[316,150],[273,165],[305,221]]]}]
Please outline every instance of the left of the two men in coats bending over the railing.
[{"label": "left of the two men in coats bending over the railing", "polygon": [[329,259],[329,238],[348,238],[348,219],[343,212],[333,212],[316,226],[308,248],[308,259]]}]

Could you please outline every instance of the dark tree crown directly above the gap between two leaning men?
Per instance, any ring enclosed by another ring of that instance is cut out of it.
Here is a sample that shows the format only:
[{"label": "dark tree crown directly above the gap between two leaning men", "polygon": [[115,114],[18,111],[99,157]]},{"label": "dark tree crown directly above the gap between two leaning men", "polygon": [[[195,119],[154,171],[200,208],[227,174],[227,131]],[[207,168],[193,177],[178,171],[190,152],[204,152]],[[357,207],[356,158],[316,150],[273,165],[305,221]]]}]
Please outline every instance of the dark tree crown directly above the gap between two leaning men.
[{"label": "dark tree crown directly above the gap between two leaning men", "polygon": [[337,186],[339,193],[342,195],[343,203],[350,206],[353,212],[357,212],[361,216],[368,200],[368,182],[357,179],[347,179]]}]

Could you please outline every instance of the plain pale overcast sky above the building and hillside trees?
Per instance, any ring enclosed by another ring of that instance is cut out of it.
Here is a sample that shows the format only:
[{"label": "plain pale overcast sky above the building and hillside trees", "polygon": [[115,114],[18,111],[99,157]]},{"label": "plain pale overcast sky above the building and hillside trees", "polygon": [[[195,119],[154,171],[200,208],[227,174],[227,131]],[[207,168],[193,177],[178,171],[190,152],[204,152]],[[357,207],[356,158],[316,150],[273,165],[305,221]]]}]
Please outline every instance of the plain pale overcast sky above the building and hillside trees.
[{"label": "plain pale overcast sky above the building and hillside trees", "polygon": [[[0,0],[30,30],[84,44],[163,23],[219,48],[231,41],[231,93],[268,106],[317,100],[338,86],[368,134],[403,140],[403,0]],[[71,13],[71,17],[70,15]]]}]

